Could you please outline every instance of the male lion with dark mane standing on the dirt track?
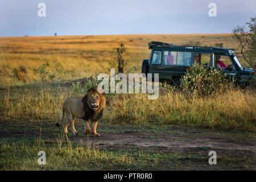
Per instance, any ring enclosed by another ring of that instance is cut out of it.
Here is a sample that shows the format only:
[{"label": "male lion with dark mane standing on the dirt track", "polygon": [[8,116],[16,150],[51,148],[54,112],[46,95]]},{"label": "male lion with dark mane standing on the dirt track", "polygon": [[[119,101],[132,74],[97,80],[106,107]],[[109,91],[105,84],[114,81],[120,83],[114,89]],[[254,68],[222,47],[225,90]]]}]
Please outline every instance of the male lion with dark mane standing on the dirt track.
[{"label": "male lion with dark mane standing on the dirt track", "polygon": [[[64,115],[67,114],[67,124],[64,127],[65,134],[68,133],[68,125],[72,123],[73,134],[79,135],[74,126],[74,118],[82,119],[84,122],[84,134],[90,133],[89,121],[92,124],[92,136],[100,137],[96,132],[99,119],[103,115],[104,107],[106,104],[105,93],[98,92],[97,86],[90,88],[84,97],[71,97],[63,103],[62,123]],[[59,123],[56,123],[59,127]]]}]

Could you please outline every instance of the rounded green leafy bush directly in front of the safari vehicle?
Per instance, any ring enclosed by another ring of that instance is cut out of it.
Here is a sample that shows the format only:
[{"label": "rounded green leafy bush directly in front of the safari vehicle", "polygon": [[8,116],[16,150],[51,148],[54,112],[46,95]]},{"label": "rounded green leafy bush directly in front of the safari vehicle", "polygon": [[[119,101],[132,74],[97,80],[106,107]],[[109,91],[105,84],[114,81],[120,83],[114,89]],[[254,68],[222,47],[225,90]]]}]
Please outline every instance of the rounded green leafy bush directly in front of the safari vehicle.
[{"label": "rounded green leafy bush directly in front of the safari vehicle", "polygon": [[234,85],[234,80],[226,76],[226,73],[218,71],[218,69],[193,65],[181,77],[181,88],[198,96],[221,93],[228,88],[233,88]]}]

